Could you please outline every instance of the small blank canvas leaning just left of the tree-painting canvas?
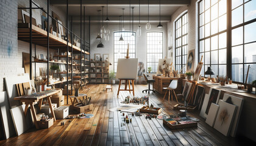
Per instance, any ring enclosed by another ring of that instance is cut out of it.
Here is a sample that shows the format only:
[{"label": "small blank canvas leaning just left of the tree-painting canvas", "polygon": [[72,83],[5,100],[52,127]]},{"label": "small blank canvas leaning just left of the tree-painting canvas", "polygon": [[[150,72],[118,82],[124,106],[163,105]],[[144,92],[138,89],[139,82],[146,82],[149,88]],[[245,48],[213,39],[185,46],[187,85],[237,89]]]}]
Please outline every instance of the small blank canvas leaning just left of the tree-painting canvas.
[{"label": "small blank canvas leaning just left of the tree-painting canvas", "polygon": [[205,120],[205,122],[208,123],[208,125],[210,125],[211,127],[213,127],[213,125],[215,123],[218,111],[219,111],[219,105],[216,105],[215,103],[212,103],[212,105],[210,107],[210,111],[208,113],[208,116]]}]

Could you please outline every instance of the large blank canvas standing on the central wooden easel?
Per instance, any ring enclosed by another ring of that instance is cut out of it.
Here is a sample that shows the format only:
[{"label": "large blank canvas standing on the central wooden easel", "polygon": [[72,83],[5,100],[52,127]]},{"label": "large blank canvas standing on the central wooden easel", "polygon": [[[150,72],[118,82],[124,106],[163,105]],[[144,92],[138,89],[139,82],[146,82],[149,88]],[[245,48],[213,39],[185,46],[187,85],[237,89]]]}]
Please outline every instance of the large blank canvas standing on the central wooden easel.
[{"label": "large blank canvas standing on the central wooden easel", "polygon": [[136,79],[138,72],[138,58],[119,58],[116,78]]}]

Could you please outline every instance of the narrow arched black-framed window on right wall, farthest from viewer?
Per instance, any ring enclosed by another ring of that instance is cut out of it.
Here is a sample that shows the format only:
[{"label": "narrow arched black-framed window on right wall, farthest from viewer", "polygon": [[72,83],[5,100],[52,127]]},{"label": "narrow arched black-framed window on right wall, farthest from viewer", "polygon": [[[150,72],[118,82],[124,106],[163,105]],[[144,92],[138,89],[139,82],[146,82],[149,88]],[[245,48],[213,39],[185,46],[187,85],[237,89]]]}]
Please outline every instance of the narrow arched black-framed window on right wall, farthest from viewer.
[{"label": "narrow arched black-framed window on right wall, farthest from viewer", "polygon": [[[175,68],[180,70],[187,64],[188,54],[188,13],[180,16],[175,22]],[[183,73],[186,72],[184,68]]]}]

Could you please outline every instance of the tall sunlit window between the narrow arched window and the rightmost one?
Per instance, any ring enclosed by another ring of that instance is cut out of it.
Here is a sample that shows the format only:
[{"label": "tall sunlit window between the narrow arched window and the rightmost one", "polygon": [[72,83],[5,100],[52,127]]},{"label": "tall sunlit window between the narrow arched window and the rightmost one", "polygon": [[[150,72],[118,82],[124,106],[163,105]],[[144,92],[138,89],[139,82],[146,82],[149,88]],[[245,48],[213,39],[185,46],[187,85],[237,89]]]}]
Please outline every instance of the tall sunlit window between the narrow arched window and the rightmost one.
[{"label": "tall sunlit window between the narrow arched window and the rightmost one", "polygon": [[216,75],[227,71],[227,0],[199,2],[199,59],[204,57],[205,69],[211,66]]}]

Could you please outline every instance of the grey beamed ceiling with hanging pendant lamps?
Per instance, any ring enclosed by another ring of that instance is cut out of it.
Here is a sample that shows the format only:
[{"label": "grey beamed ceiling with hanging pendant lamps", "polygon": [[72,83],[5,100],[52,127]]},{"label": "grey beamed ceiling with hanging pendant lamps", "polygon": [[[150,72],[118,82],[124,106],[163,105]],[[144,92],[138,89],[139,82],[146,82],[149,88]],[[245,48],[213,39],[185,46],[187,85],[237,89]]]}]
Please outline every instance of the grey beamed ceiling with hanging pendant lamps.
[{"label": "grey beamed ceiling with hanging pendant lamps", "polygon": [[[130,0],[131,7],[134,7],[135,22],[138,21],[139,16],[139,4],[138,0]],[[130,1],[129,0],[108,0],[108,17],[110,23],[118,23],[119,15],[123,15],[124,9],[124,22],[129,21],[130,12]],[[68,1],[68,14],[74,16],[74,22],[80,21],[80,4],[82,2],[82,15],[92,16],[92,21],[97,21],[98,10],[102,10],[104,6],[104,18],[107,15],[107,0],[69,0]],[[148,20],[148,0],[140,0],[140,16],[141,23],[146,23]],[[171,15],[180,7],[190,4],[190,0],[161,0],[161,18],[163,22],[168,22]],[[63,0],[51,0],[51,5],[59,7],[60,10],[66,12],[66,1]],[[102,12],[101,12],[102,15]],[[159,0],[149,1],[149,16],[150,21],[159,21]]]}]

